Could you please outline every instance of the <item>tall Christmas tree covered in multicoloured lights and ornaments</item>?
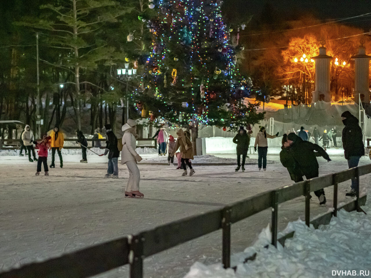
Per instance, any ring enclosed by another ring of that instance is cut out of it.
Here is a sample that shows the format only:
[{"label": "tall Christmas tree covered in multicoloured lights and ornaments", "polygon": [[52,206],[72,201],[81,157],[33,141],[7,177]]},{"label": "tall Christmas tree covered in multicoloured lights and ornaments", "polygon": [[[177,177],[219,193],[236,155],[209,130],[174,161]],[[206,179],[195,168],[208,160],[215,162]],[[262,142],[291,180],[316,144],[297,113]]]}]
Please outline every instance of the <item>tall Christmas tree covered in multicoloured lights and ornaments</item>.
[{"label": "tall Christmas tree covered in multicoloured lights and ornaments", "polygon": [[[245,103],[252,84],[236,67],[220,0],[157,0],[151,53],[137,90],[142,116],[170,126],[238,126],[263,119]],[[238,44],[238,33],[237,33]],[[149,113],[150,115],[148,115]]]}]

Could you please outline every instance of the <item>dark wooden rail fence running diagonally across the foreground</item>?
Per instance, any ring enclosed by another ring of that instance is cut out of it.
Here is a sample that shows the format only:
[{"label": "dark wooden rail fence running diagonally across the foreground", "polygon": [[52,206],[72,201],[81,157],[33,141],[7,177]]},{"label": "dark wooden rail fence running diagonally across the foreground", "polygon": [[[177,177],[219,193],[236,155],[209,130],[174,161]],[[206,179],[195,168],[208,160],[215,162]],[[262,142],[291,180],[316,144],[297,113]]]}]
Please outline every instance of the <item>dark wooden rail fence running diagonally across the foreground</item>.
[{"label": "dark wooden rail fence running diagonally across the foreground", "polygon": [[[311,223],[318,228],[320,224],[328,224],[338,211],[338,183],[356,178],[359,187],[359,176],[371,173],[371,164],[358,166],[341,172],[332,173],[318,178],[308,179],[291,185],[282,186],[270,191],[251,196],[242,201],[232,203],[221,209],[204,214],[179,219],[154,229],[143,231],[137,235],[129,235],[113,241],[91,246],[79,251],[70,252],[44,262],[23,265],[0,273],[0,278],[85,278],[101,274],[111,269],[129,264],[129,277],[143,277],[143,260],[161,251],[173,248],[192,239],[222,230],[222,263],[230,267],[230,229],[233,223],[248,218],[265,209],[272,209],[272,241],[282,245],[286,238],[292,237],[293,232],[277,239],[278,234],[278,205],[280,203],[305,196],[305,223]],[[310,222],[309,192],[334,186],[334,210],[322,218]],[[347,211],[364,212],[359,204],[365,202],[365,197],[356,199],[343,206]],[[246,260],[251,259],[247,258]],[[253,259],[253,258],[252,258]]]}]

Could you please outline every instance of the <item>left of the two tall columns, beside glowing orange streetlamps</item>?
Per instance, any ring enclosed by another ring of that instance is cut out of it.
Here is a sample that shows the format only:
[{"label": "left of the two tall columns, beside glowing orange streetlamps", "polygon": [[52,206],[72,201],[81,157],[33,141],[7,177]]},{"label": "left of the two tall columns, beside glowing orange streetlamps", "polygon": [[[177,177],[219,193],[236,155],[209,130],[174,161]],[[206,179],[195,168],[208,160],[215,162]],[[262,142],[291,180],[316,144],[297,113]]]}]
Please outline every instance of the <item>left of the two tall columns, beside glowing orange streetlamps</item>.
[{"label": "left of the two tall columns, beside glowing orange streetlamps", "polygon": [[326,55],[326,47],[319,47],[319,55],[312,58],[316,62],[315,89],[312,92],[312,102],[324,100],[331,102],[330,94],[330,61],[331,56]]}]

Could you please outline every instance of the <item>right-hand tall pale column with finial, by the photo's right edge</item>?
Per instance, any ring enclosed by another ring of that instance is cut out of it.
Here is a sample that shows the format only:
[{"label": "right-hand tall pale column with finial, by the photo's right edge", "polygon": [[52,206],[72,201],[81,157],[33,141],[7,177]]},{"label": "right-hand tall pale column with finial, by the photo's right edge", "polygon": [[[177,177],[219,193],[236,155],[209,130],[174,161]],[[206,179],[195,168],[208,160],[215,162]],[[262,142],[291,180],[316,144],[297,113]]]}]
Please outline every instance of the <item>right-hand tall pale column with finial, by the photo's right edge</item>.
[{"label": "right-hand tall pale column with finial, by the photo's right edge", "polygon": [[358,54],[351,57],[354,60],[354,101],[359,104],[359,96],[362,103],[370,103],[370,91],[368,88],[369,61],[371,56],[366,55],[363,45],[359,46]]}]

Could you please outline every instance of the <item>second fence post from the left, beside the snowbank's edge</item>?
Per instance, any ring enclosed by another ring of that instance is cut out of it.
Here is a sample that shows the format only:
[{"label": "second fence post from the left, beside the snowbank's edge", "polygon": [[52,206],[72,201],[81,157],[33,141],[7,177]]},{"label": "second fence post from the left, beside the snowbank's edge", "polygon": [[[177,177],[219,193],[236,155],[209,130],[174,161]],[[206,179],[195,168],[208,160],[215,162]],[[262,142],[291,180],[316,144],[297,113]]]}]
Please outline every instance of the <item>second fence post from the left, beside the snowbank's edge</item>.
[{"label": "second fence post from the left, beside the snowbank's edge", "polygon": [[225,207],[222,212],[221,232],[222,232],[222,251],[221,260],[224,268],[230,268],[231,254],[231,208]]}]

